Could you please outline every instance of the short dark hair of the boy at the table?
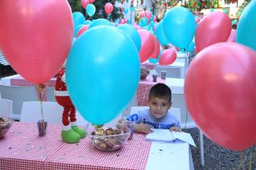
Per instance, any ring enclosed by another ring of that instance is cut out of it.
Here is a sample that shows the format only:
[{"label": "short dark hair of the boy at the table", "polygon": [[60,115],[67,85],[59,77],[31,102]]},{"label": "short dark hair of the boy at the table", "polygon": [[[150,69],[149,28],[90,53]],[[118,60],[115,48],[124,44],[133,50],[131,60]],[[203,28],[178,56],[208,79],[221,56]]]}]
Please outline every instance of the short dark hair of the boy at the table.
[{"label": "short dark hair of the boy at the table", "polygon": [[157,83],[151,87],[149,97],[165,98],[171,102],[171,89],[164,83]]}]

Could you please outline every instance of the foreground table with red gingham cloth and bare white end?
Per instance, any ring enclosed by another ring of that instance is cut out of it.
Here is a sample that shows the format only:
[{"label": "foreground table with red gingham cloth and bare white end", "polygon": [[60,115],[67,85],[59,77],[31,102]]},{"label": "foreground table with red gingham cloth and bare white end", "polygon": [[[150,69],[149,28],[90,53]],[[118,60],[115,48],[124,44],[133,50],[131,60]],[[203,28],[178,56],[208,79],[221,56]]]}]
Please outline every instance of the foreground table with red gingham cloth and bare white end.
[{"label": "foreground table with red gingham cloth and bare white end", "polygon": [[[92,147],[88,138],[77,144],[63,143],[61,126],[49,124],[44,137],[37,131],[34,123],[13,122],[0,140],[0,169],[152,169],[159,165],[168,165],[164,169],[193,169],[187,143],[151,145],[145,135],[135,133],[121,150],[104,152]],[[153,157],[159,147],[167,158]]]}]

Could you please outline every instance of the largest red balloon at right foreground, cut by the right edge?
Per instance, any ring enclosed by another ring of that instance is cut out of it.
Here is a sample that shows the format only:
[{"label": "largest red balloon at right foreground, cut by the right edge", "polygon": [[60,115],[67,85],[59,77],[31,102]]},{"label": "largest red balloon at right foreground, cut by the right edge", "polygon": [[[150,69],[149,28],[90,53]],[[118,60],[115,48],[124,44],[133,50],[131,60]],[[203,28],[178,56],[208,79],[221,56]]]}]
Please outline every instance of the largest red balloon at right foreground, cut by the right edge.
[{"label": "largest red balloon at right foreground, cut by the right edge", "polygon": [[197,54],[184,87],[186,105],[204,134],[242,151],[256,143],[256,52],[218,43]]}]

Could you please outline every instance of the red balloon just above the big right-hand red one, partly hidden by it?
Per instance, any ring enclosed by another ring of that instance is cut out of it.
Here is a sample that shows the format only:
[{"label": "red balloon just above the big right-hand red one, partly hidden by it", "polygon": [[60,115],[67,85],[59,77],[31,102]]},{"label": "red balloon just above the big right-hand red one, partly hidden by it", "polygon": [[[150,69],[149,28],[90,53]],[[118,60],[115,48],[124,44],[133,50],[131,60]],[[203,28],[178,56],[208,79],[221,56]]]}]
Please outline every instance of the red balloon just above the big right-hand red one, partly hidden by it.
[{"label": "red balloon just above the big right-hand red one, partly hidden by it", "polygon": [[196,30],[197,51],[215,44],[225,42],[232,29],[231,20],[224,12],[211,12],[200,20]]}]

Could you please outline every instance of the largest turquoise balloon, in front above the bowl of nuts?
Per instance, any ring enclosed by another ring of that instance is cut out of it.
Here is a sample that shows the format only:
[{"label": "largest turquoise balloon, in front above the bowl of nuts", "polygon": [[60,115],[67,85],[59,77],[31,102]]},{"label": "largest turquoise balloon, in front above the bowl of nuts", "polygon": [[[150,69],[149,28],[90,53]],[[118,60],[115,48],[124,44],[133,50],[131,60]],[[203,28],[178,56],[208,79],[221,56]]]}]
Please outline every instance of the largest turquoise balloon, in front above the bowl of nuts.
[{"label": "largest turquoise balloon, in front above the bowl of nuts", "polygon": [[135,44],[115,27],[89,29],[74,42],[67,57],[66,83],[78,112],[96,125],[117,117],[139,84]]}]

